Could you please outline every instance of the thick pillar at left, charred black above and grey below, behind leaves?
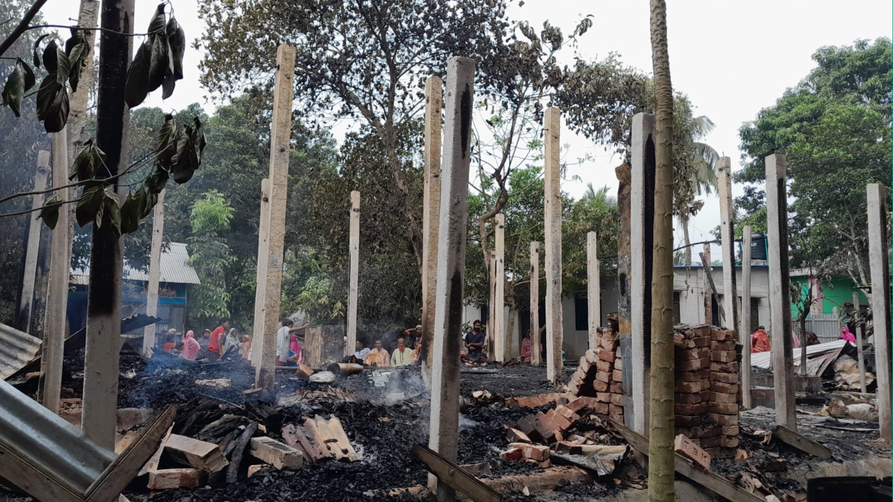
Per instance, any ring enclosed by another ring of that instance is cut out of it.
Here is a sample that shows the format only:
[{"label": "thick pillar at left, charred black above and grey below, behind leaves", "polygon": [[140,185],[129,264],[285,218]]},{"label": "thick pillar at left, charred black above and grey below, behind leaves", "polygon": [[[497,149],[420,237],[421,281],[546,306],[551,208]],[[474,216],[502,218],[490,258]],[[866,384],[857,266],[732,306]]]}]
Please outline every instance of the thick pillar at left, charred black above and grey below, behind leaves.
[{"label": "thick pillar at left, charred black above and grey below, behind leaves", "polygon": [[[124,86],[132,43],[126,34],[133,33],[133,4],[134,0],[103,0],[100,13],[104,30],[99,42],[96,144],[105,152],[105,169],[96,172],[99,179],[117,174],[127,160],[129,109],[124,103]],[[126,181],[119,179],[115,184],[125,185]],[[103,224],[94,224],[90,250],[81,429],[109,449],[114,448],[118,401],[122,255],[122,239],[105,213]]]}]

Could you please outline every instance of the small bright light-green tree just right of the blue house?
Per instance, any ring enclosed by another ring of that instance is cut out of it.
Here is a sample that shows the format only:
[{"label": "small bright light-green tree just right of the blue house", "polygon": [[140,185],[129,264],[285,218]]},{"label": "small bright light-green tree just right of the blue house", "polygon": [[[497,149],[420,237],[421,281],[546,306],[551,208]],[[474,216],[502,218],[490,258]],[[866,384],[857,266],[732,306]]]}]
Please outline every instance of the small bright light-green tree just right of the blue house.
[{"label": "small bright light-green tree just right of the blue house", "polygon": [[223,235],[230,230],[232,210],[226,198],[210,190],[190,206],[189,260],[201,284],[189,291],[188,322],[196,326],[230,316],[227,267],[235,260]]}]

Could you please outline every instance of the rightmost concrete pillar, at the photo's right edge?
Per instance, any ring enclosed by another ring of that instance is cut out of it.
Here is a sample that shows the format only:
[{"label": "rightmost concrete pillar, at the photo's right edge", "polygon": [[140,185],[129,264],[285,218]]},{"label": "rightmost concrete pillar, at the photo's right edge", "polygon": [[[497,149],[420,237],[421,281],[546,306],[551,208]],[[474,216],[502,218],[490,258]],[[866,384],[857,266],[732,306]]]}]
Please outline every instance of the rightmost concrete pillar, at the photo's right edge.
[{"label": "rightmost concrete pillar, at the photo's right edge", "polygon": [[887,189],[880,183],[869,183],[868,192],[868,264],[872,271],[872,314],[874,326],[874,359],[878,377],[878,414],[880,439],[890,442],[890,276]]}]

